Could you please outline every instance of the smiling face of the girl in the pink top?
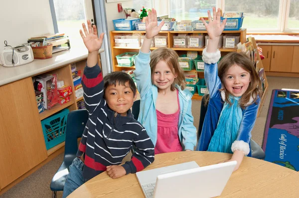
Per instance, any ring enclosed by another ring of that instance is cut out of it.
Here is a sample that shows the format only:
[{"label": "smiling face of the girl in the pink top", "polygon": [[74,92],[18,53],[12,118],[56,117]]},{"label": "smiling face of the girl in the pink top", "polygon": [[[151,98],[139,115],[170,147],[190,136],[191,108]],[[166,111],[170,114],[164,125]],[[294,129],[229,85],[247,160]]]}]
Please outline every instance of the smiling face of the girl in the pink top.
[{"label": "smiling face of the girl in the pink top", "polygon": [[171,84],[174,82],[176,75],[165,61],[159,61],[154,68],[152,74],[152,82],[158,89],[170,89]]}]

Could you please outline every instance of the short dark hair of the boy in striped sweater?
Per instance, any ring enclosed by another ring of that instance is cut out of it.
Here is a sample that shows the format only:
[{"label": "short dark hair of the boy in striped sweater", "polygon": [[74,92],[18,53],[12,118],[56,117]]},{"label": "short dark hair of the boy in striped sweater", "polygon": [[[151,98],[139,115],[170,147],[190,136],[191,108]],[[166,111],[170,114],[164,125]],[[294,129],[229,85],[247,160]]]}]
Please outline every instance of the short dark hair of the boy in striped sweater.
[{"label": "short dark hair of the boy in striped sweater", "polygon": [[123,71],[113,71],[105,75],[103,80],[104,80],[104,96],[105,96],[105,90],[108,86],[111,85],[116,86],[116,83],[125,86],[126,82],[129,82],[129,86],[132,89],[134,96],[136,95],[137,92],[136,85],[132,77],[128,73],[125,73]]}]

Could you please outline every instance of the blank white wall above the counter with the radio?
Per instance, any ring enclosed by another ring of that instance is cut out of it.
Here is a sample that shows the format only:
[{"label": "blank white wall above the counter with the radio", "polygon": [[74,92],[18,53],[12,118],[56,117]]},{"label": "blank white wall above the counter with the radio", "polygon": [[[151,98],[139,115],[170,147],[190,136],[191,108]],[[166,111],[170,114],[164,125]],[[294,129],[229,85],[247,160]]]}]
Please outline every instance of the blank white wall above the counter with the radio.
[{"label": "blank white wall above the counter with the radio", "polygon": [[49,0],[0,0],[0,48],[54,33]]}]

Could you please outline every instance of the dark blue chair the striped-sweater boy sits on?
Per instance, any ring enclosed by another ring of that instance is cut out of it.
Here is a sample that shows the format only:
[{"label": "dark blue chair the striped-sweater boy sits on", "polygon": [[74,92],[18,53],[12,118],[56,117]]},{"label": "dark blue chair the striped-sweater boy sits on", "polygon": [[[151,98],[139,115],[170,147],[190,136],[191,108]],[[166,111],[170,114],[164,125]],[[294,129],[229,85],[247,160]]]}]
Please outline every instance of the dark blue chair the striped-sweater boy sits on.
[{"label": "dark blue chair the striped-sweater boy sits on", "polygon": [[78,138],[82,137],[87,121],[87,110],[72,111],[67,116],[64,159],[50,184],[52,198],[56,198],[57,191],[63,191],[65,178],[69,173],[69,166],[72,164],[78,151]]}]

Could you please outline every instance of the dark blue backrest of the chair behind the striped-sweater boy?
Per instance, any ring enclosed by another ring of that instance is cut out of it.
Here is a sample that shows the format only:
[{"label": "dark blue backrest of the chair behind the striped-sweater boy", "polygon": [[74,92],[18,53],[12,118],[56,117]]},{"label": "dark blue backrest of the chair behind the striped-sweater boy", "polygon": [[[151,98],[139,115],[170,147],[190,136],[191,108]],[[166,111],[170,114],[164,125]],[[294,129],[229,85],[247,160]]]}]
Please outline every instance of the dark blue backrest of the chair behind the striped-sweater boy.
[{"label": "dark blue backrest of the chair behind the striped-sweater boy", "polygon": [[82,137],[86,123],[88,121],[88,111],[85,109],[71,111],[67,116],[65,151],[63,161],[73,161],[78,151],[77,140]]}]

